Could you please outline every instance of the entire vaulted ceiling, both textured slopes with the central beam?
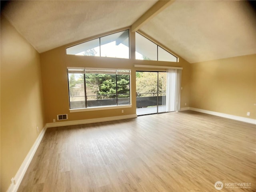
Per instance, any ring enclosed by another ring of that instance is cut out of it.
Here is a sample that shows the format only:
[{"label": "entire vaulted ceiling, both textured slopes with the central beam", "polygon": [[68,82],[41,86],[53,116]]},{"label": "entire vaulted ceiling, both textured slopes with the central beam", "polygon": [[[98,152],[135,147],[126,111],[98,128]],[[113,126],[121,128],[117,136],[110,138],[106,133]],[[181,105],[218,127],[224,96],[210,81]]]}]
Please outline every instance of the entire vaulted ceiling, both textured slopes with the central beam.
[{"label": "entire vaulted ceiling, both textured slopes with the central beam", "polygon": [[8,2],[1,13],[40,53],[135,26],[190,63],[256,54],[256,14],[248,2],[158,3],[20,0]]}]

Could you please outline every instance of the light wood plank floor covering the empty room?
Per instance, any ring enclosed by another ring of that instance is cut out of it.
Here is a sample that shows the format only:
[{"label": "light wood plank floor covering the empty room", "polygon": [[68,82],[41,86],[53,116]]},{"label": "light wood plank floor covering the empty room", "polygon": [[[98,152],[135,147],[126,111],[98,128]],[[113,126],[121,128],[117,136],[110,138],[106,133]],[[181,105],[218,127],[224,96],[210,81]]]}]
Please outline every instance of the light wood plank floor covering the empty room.
[{"label": "light wood plank floor covering the empty room", "polygon": [[[198,112],[48,128],[19,192],[256,191],[256,126]],[[225,188],[226,183],[251,188]]]}]

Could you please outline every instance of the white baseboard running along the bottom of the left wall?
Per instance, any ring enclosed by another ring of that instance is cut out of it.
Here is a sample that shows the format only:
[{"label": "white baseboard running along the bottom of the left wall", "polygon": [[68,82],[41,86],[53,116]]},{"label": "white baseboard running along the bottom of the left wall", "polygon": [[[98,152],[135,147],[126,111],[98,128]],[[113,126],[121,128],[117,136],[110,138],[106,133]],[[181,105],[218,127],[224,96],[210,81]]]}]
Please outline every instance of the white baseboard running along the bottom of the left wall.
[{"label": "white baseboard running along the bottom of the left wall", "polygon": [[34,154],[36,153],[36,150],[42,140],[42,138],[44,137],[44,133],[46,132],[47,127],[45,126],[43,128],[43,130],[40,132],[40,134],[38,135],[36,141],[34,142],[32,148],[30,149],[30,151],[28,152],[26,158],[24,159],[24,161],[22,162],[18,172],[16,173],[16,175],[14,176],[14,183],[10,184],[7,192],[16,192],[20,186],[20,183],[28,169],[28,166],[32,160],[32,158],[34,157]]}]

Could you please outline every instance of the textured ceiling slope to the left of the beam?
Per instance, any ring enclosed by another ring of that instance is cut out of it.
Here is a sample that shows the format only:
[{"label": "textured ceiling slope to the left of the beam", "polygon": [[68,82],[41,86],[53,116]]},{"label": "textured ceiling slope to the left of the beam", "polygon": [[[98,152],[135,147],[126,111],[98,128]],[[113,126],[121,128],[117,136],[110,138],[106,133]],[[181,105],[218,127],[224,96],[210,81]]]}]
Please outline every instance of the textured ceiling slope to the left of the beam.
[{"label": "textured ceiling slope to the left of the beam", "polygon": [[38,52],[131,26],[157,1],[10,1],[4,16]]}]

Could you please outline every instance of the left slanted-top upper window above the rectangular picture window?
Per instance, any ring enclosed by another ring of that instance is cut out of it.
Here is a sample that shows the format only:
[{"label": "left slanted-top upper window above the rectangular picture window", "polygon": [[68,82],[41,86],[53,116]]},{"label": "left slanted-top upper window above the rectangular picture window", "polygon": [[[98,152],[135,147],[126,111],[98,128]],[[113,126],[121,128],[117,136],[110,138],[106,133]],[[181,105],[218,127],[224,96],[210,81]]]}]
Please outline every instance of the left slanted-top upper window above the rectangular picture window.
[{"label": "left slanted-top upper window above the rectangular picture window", "polygon": [[130,58],[129,30],[66,48],[66,54],[128,59]]}]

